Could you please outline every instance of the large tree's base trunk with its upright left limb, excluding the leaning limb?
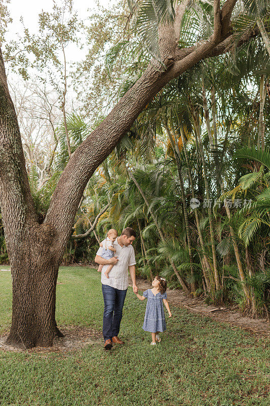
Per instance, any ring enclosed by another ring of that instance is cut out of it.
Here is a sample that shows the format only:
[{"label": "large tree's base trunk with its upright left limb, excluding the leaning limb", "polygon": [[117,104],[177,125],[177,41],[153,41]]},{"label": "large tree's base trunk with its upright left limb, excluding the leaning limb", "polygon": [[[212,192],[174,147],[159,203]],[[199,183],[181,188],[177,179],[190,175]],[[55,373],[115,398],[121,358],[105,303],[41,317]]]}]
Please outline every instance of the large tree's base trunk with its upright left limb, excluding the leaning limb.
[{"label": "large tree's base trunk with its upright left limb, excluding the leaning limb", "polygon": [[61,248],[54,226],[38,224],[15,109],[0,54],[0,196],[11,264],[13,303],[8,343],[52,345]]}]

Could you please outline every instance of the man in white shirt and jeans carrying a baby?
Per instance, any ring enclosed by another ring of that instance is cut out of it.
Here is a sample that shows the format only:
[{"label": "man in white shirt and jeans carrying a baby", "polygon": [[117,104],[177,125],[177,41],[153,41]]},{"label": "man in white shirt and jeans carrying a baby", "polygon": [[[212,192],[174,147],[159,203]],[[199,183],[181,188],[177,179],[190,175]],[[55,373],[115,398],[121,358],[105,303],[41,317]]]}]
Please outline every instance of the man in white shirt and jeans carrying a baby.
[{"label": "man in white shirt and jeans carrying a baby", "polygon": [[[136,238],[136,232],[127,227],[114,241],[115,256],[110,259],[101,258],[102,247],[99,248],[95,262],[104,265],[101,272],[102,293],[104,299],[103,313],[103,337],[104,349],[111,350],[112,343],[124,344],[119,339],[120,323],[122,320],[123,306],[128,290],[128,269],[133,284],[133,292],[138,293],[135,276],[135,254],[132,243]],[[105,276],[105,270],[113,264],[109,272],[109,278]]]}]

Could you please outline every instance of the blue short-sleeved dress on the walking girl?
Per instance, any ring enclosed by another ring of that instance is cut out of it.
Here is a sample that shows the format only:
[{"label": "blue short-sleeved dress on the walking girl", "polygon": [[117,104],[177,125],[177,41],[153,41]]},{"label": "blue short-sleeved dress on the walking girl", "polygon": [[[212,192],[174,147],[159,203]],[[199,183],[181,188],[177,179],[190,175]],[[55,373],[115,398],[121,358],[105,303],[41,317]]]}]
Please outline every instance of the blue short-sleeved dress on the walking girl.
[{"label": "blue short-sleeved dress on the walking girl", "polygon": [[163,308],[163,299],[167,299],[167,293],[157,293],[155,296],[151,289],[145,290],[142,294],[147,298],[144,322],[142,328],[144,331],[155,333],[166,330],[165,313]]}]

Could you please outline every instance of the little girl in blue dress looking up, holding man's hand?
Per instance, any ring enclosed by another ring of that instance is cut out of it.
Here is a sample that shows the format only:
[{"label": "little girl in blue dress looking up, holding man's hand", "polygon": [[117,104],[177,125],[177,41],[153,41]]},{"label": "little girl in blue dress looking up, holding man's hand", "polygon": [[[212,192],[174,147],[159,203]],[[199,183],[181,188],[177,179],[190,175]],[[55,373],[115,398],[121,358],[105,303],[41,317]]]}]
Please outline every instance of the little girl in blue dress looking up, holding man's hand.
[{"label": "little girl in blue dress looking up, holding man's hand", "polygon": [[156,276],[152,282],[152,289],[147,289],[143,292],[143,296],[138,293],[136,296],[140,300],[147,298],[144,323],[142,328],[144,331],[150,331],[152,333],[151,345],[156,345],[157,342],[161,342],[160,331],[166,330],[165,313],[163,303],[168,310],[169,317],[172,317],[169,303],[167,301],[167,282],[166,279]]}]

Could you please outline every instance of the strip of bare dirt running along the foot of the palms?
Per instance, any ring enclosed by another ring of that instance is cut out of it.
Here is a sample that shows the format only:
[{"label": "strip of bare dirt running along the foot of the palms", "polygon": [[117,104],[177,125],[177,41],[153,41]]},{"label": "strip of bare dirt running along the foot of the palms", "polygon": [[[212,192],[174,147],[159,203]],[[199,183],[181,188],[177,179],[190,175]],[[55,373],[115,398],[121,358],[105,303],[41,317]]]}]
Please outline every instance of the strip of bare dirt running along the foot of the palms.
[{"label": "strip of bare dirt running along the foot of the palms", "polygon": [[[151,284],[144,279],[137,279],[137,286],[140,290],[151,288]],[[129,280],[132,286],[131,279]],[[215,321],[228,323],[232,328],[242,328],[251,333],[270,336],[270,326],[265,319],[251,319],[243,316],[237,306],[208,306],[203,298],[186,297],[181,290],[167,289],[168,301],[175,307],[187,309],[191,313],[211,317]]]}]

